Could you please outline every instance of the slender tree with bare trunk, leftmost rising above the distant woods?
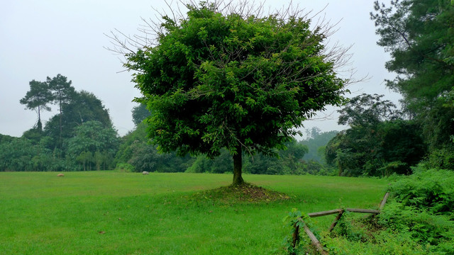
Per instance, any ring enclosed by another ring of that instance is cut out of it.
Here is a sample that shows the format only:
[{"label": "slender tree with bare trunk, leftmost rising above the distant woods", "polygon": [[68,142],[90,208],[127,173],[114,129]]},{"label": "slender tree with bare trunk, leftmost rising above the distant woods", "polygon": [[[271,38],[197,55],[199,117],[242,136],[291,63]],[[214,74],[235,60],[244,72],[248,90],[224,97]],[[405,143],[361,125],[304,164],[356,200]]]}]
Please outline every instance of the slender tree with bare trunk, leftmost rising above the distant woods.
[{"label": "slender tree with bare trunk, leftmost rising above the distant woods", "polygon": [[50,91],[49,84],[42,81],[30,81],[30,90],[27,91],[26,96],[21,99],[21,104],[26,105],[26,108],[35,110],[38,113],[38,123],[36,128],[39,131],[43,130],[41,123],[41,110],[50,111],[48,103],[53,100],[52,92]]}]

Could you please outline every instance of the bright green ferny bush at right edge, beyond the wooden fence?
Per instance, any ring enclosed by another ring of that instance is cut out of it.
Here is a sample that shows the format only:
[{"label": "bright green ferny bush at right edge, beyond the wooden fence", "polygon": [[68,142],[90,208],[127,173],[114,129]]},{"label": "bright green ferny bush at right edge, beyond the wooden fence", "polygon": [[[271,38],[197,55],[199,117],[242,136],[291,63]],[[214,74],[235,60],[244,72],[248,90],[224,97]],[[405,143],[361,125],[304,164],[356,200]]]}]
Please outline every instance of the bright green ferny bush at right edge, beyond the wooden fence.
[{"label": "bright green ferny bush at right edge, beyond the wooden fence", "polygon": [[407,235],[434,254],[454,253],[454,173],[416,169],[389,187],[392,200],[378,223]]}]

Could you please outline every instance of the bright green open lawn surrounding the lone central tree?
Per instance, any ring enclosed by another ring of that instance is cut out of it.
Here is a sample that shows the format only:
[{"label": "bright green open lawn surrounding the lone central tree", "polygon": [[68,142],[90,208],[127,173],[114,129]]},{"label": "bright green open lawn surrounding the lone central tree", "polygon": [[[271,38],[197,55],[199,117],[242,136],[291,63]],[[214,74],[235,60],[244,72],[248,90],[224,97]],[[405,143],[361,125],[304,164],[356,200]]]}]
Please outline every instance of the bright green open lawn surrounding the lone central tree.
[{"label": "bright green open lawn surrounding the lone central tree", "polygon": [[[3,172],[0,254],[283,254],[282,218],[292,208],[377,208],[387,185],[365,178],[243,177],[290,199],[226,203],[196,195],[228,186],[229,174]],[[314,220],[327,228],[333,217]]]}]

